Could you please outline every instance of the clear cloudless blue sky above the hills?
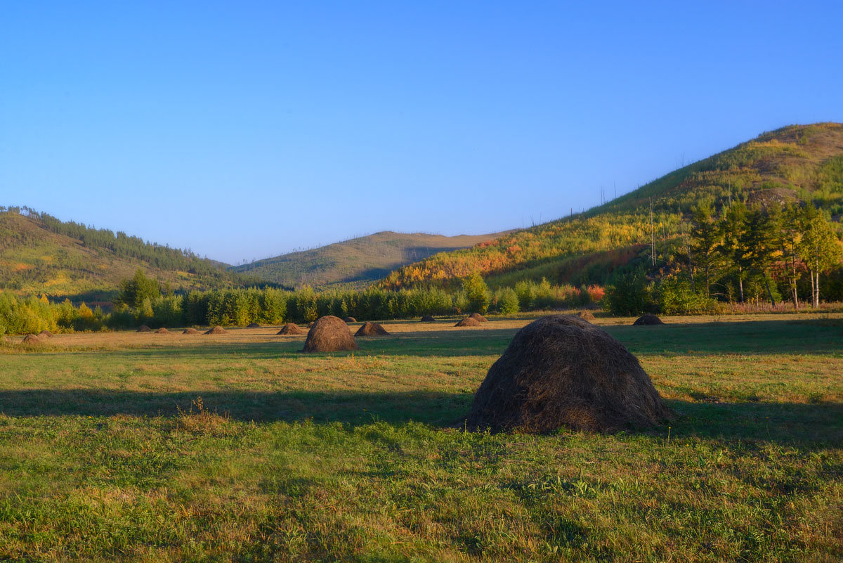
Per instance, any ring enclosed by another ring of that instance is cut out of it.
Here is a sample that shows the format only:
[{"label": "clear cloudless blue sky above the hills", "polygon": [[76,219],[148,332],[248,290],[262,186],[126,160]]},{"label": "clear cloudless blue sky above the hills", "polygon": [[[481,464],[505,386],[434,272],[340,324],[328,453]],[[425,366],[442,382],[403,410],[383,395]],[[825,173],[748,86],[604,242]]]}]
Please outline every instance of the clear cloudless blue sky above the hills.
[{"label": "clear cloudless blue sky above the hills", "polygon": [[843,121],[840,2],[5,2],[0,205],[229,263],[565,215]]}]

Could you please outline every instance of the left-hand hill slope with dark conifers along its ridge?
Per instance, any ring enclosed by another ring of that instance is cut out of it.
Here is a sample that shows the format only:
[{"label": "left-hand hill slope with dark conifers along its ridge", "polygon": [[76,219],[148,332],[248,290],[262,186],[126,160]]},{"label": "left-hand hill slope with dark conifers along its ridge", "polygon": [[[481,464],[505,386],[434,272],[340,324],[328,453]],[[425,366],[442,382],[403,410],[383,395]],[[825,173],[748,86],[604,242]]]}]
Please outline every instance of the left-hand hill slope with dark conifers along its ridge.
[{"label": "left-hand hill slope with dark conifers along its ridge", "polygon": [[126,233],[64,223],[0,207],[0,289],[106,301],[137,268],[173,289],[242,285],[249,280],[213,260]]}]

